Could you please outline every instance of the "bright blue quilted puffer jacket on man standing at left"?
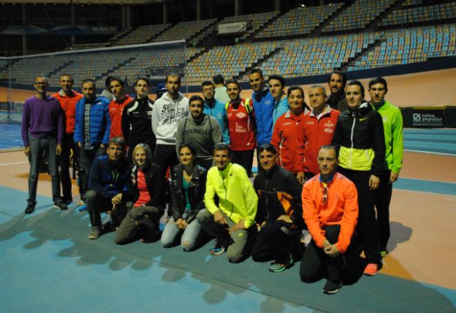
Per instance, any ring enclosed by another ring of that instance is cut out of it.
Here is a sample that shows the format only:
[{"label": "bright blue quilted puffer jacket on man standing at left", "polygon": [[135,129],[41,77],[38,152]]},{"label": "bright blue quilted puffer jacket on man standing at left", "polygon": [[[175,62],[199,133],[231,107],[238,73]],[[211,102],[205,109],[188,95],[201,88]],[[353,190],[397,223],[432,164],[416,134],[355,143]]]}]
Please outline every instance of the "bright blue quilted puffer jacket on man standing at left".
[{"label": "bright blue quilted puffer jacket on man standing at left", "polygon": [[[86,98],[83,97],[76,103],[76,116],[75,116],[75,143],[81,141],[84,145],[84,106],[86,105]],[[108,110],[109,100],[105,97],[97,97],[91,105],[91,119],[90,119],[90,132],[91,132],[91,145],[103,143],[108,145],[109,131],[111,130],[111,119]]]}]

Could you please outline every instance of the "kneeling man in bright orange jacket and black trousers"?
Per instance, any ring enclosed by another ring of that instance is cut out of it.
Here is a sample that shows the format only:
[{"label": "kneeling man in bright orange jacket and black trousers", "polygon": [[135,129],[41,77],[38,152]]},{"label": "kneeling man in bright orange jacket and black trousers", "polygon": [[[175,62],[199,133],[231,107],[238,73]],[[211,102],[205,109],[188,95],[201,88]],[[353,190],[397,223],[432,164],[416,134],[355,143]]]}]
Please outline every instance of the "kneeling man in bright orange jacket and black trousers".
[{"label": "kneeling man in bright orange jacket and black trousers", "polygon": [[325,294],[335,294],[342,286],[341,270],[358,219],[357,188],[347,177],[336,172],[337,149],[323,145],[318,154],[320,174],[303,187],[303,217],[312,241],[301,260],[301,281],[321,279],[324,269]]}]

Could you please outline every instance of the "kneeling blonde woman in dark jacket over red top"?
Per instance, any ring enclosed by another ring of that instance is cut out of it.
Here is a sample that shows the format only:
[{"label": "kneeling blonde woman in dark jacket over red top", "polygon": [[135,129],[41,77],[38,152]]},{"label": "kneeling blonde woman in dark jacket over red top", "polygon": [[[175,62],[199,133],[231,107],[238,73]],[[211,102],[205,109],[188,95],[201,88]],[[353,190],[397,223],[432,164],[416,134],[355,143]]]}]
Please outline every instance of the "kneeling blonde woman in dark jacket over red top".
[{"label": "kneeling blonde woman in dark jacket over red top", "polygon": [[152,163],[149,145],[138,143],[133,149],[133,168],[127,183],[127,207],[132,206],[115,233],[115,243],[123,245],[137,238],[142,242],[158,240],[165,207],[163,176],[161,168]]}]

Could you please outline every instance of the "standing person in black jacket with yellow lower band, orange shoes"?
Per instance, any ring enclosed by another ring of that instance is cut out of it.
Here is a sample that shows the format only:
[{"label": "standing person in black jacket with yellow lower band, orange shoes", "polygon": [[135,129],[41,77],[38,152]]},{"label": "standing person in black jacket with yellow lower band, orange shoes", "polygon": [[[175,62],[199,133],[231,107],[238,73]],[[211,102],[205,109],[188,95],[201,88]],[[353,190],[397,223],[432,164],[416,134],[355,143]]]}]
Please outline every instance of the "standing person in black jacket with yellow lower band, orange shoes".
[{"label": "standing person in black jacket with yellow lower band, orange shoes", "polygon": [[345,97],[348,110],[339,115],[332,144],[339,149],[337,172],[357,186],[357,234],[363,241],[368,263],[364,274],[372,276],[377,274],[382,265],[374,201],[385,162],[383,120],[364,101],[364,87],[359,81],[347,84]]}]

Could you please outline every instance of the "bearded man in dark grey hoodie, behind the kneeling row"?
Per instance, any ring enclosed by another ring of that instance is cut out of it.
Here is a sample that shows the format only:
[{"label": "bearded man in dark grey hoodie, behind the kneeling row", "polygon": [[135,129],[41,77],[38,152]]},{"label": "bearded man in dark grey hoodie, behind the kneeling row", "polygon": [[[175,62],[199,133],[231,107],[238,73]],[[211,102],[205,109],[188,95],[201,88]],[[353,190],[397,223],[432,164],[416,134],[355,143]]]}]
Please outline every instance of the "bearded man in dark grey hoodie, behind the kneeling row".
[{"label": "bearded man in dark grey hoodie, behind the kneeling row", "polygon": [[193,145],[196,149],[196,162],[209,170],[212,166],[213,146],[222,141],[222,129],[218,121],[204,114],[204,101],[200,96],[193,96],[189,101],[190,115],[182,119],[175,134],[175,148],[179,154],[180,146],[184,143]]}]

